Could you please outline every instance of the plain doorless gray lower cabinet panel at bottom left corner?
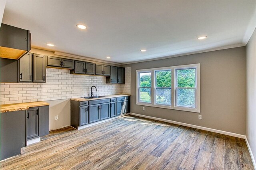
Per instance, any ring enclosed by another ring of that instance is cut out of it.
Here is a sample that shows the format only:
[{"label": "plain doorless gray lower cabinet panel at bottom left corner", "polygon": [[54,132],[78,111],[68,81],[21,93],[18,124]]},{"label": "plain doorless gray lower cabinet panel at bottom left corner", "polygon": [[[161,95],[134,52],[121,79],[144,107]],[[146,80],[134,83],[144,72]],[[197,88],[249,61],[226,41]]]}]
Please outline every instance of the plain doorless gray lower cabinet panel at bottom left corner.
[{"label": "plain doorless gray lower cabinet panel at bottom left corner", "polygon": [[26,146],[26,110],[1,113],[0,160],[21,154]]}]

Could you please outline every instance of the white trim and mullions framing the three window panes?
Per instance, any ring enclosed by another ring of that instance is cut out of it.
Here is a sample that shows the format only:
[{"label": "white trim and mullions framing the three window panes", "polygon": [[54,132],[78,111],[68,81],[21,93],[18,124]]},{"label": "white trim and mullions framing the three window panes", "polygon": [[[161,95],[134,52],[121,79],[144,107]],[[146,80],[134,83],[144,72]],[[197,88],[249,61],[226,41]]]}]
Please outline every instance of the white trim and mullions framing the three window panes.
[{"label": "white trim and mullions framing the three window panes", "polygon": [[[180,107],[175,105],[176,100],[176,73],[175,69],[188,69],[188,68],[196,68],[196,108],[189,107]],[[172,73],[172,86],[171,86],[171,106],[168,105],[158,105],[155,103],[155,73],[154,71],[171,69]],[[151,72],[151,103],[140,102],[138,98],[138,73],[143,72]],[[160,67],[160,68],[152,68],[152,69],[140,69],[136,70],[136,105],[142,106],[150,106],[150,107],[159,107],[164,109],[174,109],[180,111],[188,111],[188,112],[196,112],[200,113],[200,63],[198,64],[189,64],[189,65],[177,65],[171,67]]]}]

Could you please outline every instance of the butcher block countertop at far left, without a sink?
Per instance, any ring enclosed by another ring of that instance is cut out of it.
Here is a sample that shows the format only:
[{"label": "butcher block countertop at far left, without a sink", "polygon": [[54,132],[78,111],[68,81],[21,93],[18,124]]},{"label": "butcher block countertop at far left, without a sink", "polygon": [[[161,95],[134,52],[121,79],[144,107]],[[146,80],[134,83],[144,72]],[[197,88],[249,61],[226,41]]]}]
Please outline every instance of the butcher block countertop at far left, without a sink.
[{"label": "butcher block countertop at far left, without a sink", "polygon": [[6,113],[6,112],[12,112],[12,111],[28,110],[30,107],[39,107],[39,106],[48,106],[48,105],[49,103],[46,103],[44,101],[16,103],[16,104],[1,105],[0,110],[1,110],[1,113]]}]

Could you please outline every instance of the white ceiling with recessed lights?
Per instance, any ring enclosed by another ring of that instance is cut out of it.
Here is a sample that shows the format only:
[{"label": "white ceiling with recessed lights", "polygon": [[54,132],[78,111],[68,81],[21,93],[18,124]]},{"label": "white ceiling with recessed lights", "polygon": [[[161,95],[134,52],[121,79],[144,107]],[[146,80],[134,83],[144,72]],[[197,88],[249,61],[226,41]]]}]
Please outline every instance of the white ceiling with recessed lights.
[{"label": "white ceiling with recessed lights", "polygon": [[128,63],[244,46],[255,7],[256,0],[7,0],[2,22],[30,30],[32,47]]}]

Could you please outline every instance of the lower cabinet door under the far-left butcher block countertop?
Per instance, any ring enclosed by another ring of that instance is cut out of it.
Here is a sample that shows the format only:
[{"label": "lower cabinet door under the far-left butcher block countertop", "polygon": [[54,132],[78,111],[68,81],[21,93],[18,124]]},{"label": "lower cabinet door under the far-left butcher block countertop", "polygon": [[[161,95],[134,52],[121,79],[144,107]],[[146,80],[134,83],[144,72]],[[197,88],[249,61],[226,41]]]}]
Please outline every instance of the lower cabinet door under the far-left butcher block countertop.
[{"label": "lower cabinet door under the far-left butcher block countertop", "polygon": [[29,109],[27,112],[27,139],[39,136],[39,109]]}]

